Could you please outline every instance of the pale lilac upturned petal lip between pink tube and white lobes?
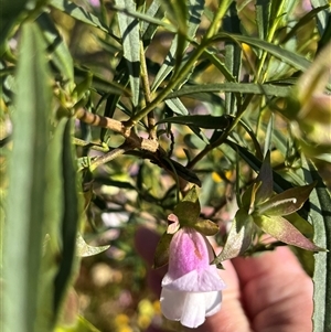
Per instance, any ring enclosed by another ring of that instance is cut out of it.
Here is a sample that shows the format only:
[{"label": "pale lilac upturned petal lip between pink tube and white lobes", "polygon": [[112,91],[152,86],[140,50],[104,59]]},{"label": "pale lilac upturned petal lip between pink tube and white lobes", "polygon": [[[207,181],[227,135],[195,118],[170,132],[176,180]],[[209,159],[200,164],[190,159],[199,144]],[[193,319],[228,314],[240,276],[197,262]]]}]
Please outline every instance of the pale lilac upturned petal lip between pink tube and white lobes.
[{"label": "pale lilac upturned petal lip between pink tube and white lobes", "polygon": [[162,287],[177,291],[209,292],[224,289],[225,283],[213,265],[203,270],[193,270],[175,280],[167,274]]}]

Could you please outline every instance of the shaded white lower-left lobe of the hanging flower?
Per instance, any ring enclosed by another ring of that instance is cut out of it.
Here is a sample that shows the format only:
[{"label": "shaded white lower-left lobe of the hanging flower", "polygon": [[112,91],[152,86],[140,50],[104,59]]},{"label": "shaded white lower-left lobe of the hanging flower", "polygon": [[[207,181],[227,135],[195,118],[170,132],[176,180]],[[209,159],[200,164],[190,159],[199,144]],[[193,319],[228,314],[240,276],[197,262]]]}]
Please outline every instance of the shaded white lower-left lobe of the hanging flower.
[{"label": "shaded white lower-left lobe of the hanging flower", "polygon": [[162,288],[160,303],[164,317],[172,321],[179,321],[184,310],[186,294],[186,292]]}]

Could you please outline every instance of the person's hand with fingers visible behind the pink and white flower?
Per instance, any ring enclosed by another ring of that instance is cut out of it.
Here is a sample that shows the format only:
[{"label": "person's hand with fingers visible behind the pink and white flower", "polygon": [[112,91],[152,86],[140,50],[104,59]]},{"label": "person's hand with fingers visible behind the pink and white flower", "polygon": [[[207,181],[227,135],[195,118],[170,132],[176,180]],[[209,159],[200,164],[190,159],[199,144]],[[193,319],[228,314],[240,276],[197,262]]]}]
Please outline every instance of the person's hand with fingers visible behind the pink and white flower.
[{"label": "person's hand with fingers visible behind the pink and white flower", "polygon": [[[159,236],[139,228],[136,248],[152,265]],[[196,332],[311,332],[312,281],[287,247],[256,257],[224,261],[220,276],[223,290],[221,310],[206,318]],[[160,294],[167,267],[148,270],[150,288]],[[188,329],[188,331],[191,329]],[[148,332],[160,332],[150,326]],[[167,331],[162,331],[167,332]]]}]

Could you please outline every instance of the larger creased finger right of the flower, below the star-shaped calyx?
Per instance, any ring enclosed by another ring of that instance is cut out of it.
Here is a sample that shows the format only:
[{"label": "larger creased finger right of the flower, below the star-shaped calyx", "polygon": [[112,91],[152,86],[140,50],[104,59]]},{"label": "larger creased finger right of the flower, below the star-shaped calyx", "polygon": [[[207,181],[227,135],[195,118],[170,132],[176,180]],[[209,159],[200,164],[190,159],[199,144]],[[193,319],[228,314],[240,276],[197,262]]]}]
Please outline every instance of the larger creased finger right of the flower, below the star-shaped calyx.
[{"label": "larger creased finger right of the flower, below the star-shaped calyx", "polygon": [[254,331],[310,332],[312,281],[288,247],[233,259]]}]

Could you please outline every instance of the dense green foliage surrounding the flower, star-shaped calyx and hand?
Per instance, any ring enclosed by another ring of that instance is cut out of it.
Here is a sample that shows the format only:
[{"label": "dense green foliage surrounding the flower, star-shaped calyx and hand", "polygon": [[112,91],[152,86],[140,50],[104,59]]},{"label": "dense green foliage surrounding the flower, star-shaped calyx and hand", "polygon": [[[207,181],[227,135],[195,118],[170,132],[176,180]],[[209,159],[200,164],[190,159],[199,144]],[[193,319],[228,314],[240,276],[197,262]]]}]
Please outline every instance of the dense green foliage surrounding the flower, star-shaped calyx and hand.
[{"label": "dense green foliage surrounding the flower, star-shaped calyx and hand", "polygon": [[[2,0],[0,15],[3,331],[161,324],[137,228],[164,232],[195,184],[224,245],[268,150],[276,193],[317,181],[289,221],[330,250],[327,0]],[[284,245],[260,235],[235,253]],[[314,332],[331,331],[330,254],[295,250]]]}]

